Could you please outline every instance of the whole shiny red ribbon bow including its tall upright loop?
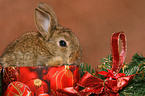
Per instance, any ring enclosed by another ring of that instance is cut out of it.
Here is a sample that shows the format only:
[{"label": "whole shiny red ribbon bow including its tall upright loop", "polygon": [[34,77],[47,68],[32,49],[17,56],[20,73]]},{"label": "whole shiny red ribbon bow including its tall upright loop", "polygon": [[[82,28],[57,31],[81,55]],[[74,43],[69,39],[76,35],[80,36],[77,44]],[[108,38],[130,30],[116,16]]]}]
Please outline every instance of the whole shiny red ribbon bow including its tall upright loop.
[{"label": "whole shiny red ribbon bow including its tall upright loop", "polygon": [[[119,54],[119,37],[122,40],[122,51]],[[111,38],[111,48],[113,64],[112,69],[101,71],[98,74],[104,75],[105,80],[97,78],[86,72],[75,87],[66,87],[58,90],[58,92],[68,96],[118,96],[117,93],[131,81],[134,75],[125,76],[124,73],[119,73],[123,67],[126,56],[126,39],[124,32],[114,33]]]}]

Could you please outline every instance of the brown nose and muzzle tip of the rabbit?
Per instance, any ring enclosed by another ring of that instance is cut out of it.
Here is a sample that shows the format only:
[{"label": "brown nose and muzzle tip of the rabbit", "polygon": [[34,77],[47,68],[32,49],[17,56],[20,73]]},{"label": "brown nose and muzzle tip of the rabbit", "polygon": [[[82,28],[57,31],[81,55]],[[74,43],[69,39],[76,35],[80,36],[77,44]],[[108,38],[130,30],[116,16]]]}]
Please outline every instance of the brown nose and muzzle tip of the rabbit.
[{"label": "brown nose and muzzle tip of the rabbit", "polygon": [[80,59],[81,59],[81,51],[80,50],[74,51],[70,54],[68,58],[68,64],[79,63]]}]

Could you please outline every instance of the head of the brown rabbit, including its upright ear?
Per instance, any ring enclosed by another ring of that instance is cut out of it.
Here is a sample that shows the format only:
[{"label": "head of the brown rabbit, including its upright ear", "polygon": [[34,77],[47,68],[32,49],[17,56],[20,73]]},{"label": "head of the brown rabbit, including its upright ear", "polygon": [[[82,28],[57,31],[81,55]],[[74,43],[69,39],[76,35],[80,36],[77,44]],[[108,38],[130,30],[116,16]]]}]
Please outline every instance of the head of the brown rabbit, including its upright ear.
[{"label": "head of the brown rabbit, including its upright ear", "polygon": [[81,47],[78,38],[69,28],[58,24],[54,11],[47,4],[38,4],[35,23],[53,57],[61,58],[65,64],[80,60]]}]

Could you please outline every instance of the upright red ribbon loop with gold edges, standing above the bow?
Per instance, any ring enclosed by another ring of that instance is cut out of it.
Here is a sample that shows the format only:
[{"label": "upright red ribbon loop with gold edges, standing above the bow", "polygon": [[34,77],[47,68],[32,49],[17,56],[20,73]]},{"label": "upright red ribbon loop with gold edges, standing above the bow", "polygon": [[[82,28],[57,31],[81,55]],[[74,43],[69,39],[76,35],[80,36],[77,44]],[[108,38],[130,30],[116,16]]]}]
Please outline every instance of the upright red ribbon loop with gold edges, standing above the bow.
[{"label": "upright red ribbon loop with gold edges, standing above the bow", "polygon": [[[122,51],[119,54],[119,37],[122,40]],[[124,32],[114,33],[111,38],[111,48],[112,48],[112,57],[113,65],[112,71],[118,73],[123,66],[125,57],[126,57],[126,38]]]}]

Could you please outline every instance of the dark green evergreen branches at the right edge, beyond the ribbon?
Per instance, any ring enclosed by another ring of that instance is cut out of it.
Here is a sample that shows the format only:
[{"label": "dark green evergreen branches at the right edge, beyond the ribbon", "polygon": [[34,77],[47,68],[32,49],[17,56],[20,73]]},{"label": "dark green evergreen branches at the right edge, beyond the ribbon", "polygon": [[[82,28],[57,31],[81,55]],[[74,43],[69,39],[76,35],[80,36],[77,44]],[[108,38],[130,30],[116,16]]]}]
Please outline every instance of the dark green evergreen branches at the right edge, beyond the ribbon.
[{"label": "dark green evergreen branches at the right edge, beyond the ribbon", "polygon": [[145,95],[145,57],[135,54],[132,61],[125,68],[125,74],[135,74],[134,79],[126,86],[121,93],[130,93],[131,96]]}]

